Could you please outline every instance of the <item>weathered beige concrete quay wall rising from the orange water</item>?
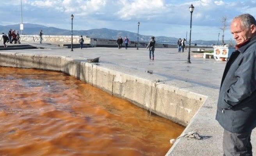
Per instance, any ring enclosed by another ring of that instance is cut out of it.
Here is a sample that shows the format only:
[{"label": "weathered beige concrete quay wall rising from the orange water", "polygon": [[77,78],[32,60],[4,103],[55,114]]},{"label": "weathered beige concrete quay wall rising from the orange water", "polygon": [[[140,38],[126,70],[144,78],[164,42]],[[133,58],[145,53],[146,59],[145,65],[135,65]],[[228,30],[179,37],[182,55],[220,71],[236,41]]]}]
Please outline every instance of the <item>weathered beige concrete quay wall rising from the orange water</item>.
[{"label": "weathered beige concrete quay wall rising from the orange water", "polygon": [[0,53],[0,66],[62,71],[183,126],[207,98],[160,80],[128,74],[132,71],[123,73],[69,57]]}]

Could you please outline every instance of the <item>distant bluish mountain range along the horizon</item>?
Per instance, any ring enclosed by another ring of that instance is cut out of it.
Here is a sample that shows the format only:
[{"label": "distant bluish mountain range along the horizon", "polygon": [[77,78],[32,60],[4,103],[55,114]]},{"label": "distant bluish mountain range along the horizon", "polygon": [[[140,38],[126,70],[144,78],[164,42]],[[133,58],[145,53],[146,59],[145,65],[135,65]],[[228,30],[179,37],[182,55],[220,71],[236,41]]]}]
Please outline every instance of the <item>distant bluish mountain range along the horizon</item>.
[{"label": "distant bluish mountain range along the horizon", "polygon": [[[46,27],[44,25],[36,25],[31,23],[23,23],[24,35],[37,35],[39,34],[40,30],[43,30],[44,35],[71,35],[71,30],[66,29],[60,29],[55,27]],[[17,25],[0,25],[0,32],[4,32],[7,34],[7,32],[11,29],[14,30],[20,30],[20,24]],[[107,28],[100,28],[100,29],[90,29],[90,30],[73,30],[73,35],[83,35],[87,37],[92,38],[102,38],[102,39],[117,39],[119,36],[125,37],[128,36],[130,41],[137,41],[137,33],[134,32],[128,32],[124,30],[112,30]],[[148,42],[149,38],[151,36],[149,35],[141,35],[139,34],[139,41],[140,42]],[[178,41],[178,38],[176,37],[165,37],[165,36],[155,36],[155,40],[157,43],[173,43],[176,44]],[[196,40],[191,41],[191,44],[206,44],[206,45],[212,45],[217,44],[218,41],[203,41],[203,40]],[[221,41],[219,41],[219,44]],[[229,43],[229,41],[225,41],[225,43]]]}]

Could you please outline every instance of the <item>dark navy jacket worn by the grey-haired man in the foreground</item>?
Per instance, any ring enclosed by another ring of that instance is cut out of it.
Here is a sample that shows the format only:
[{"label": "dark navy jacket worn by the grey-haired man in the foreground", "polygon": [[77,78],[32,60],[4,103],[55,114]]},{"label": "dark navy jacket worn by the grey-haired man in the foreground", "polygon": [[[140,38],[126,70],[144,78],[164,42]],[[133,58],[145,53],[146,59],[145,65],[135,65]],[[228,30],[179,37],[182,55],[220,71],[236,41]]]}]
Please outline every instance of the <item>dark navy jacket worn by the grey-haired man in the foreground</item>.
[{"label": "dark navy jacket worn by the grey-haired man in the foreground", "polygon": [[256,37],[233,52],[226,64],[216,120],[234,133],[256,127]]}]

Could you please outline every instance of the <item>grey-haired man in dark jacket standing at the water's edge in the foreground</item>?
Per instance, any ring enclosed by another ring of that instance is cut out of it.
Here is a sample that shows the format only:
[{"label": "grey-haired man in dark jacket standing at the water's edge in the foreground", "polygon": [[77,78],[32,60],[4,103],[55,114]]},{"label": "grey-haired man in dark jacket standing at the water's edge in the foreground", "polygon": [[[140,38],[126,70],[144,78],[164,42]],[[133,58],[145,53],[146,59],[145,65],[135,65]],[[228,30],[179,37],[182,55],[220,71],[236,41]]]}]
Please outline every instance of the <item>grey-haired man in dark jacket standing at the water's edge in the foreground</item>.
[{"label": "grey-haired man in dark jacket standing at the water's edge in the foreground", "polygon": [[224,128],[224,156],[252,156],[256,127],[256,20],[250,14],[230,25],[237,43],[221,81],[216,120]]}]

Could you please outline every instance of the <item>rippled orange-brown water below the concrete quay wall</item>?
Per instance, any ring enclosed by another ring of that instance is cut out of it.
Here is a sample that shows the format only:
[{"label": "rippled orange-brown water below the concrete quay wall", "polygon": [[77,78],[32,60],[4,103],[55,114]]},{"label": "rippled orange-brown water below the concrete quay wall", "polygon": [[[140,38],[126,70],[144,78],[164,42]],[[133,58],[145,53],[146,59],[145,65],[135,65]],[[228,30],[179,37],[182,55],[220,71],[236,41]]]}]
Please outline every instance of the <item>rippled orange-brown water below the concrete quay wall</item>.
[{"label": "rippled orange-brown water below the concrete quay wall", "polygon": [[164,156],[183,126],[74,77],[0,67],[0,156]]}]

